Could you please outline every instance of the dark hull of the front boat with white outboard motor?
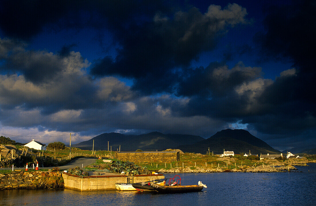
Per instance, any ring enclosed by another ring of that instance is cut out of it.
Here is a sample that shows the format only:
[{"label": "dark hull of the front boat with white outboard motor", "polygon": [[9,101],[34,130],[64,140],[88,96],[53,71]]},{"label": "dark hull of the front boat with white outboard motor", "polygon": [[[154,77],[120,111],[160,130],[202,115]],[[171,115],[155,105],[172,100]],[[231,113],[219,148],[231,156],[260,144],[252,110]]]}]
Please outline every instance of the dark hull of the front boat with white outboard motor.
[{"label": "dark hull of the front boat with white outboard motor", "polygon": [[155,189],[158,193],[184,193],[184,192],[198,192],[202,191],[203,186],[199,185],[157,185],[154,183],[150,183],[150,186]]}]

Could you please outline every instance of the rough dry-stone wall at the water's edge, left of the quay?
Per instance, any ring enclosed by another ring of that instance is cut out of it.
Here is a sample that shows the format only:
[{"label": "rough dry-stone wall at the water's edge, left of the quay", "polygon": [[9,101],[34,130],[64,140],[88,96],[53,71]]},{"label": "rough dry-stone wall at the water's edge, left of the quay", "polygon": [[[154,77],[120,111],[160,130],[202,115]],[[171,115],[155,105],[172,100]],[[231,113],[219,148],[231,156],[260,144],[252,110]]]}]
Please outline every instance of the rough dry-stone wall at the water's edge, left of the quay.
[{"label": "rough dry-stone wall at the water's edge, left of the quay", "polygon": [[0,190],[63,187],[64,181],[60,172],[15,170],[10,174],[0,174]]}]

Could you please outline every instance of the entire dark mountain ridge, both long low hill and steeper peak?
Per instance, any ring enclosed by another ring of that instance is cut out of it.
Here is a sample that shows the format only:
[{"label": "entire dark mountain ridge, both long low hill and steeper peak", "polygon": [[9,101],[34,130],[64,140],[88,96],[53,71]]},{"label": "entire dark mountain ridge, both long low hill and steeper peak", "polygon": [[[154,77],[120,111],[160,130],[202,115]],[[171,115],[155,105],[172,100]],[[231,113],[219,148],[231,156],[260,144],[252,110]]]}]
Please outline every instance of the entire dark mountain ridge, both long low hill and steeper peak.
[{"label": "entire dark mountain ridge, both long low hill and steeper peak", "polygon": [[143,151],[161,151],[168,148],[181,149],[183,152],[195,152],[206,154],[208,148],[210,151],[215,151],[217,154],[226,151],[234,151],[238,153],[252,154],[277,154],[280,151],[272,148],[266,142],[251,135],[246,130],[222,130],[216,132],[215,135],[204,139],[201,136],[183,135],[183,134],[163,134],[160,132],[150,132],[141,135],[126,135],[120,133],[103,133],[92,139],[78,144],[73,147],[91,150],[93,147],[96,150],[107,150],[107,142],[109,141],[109,149],[112,146],[112,151],[135,151],[142,149]]}]

